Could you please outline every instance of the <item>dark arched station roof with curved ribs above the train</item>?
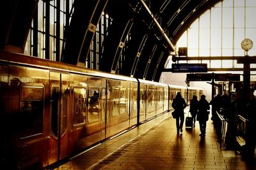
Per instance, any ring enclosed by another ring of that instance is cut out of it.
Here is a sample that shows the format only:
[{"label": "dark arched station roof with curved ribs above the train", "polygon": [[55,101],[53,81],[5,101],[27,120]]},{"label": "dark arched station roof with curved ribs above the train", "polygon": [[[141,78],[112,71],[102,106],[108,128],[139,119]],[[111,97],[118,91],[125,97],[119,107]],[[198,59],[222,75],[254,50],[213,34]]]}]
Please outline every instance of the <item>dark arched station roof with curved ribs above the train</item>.
[{"label": "dark arched station roof with curved ribs above the train", "polygon": [[[44,0],[45,3],[50,1]],[[60,0],[55,1],[60,3]],[[103,42],[100,71],[116,73],[125,38],[129,35],[118,74],[159,81],[181,34],[218,2],[220,0],[74,0],[74,13],[65,28],[61,62],[74,65],[86,62],[95,25],[104,12],[112,20]],[[1,3],[0,50],[24,52],[37,4],[38,0]]]}]

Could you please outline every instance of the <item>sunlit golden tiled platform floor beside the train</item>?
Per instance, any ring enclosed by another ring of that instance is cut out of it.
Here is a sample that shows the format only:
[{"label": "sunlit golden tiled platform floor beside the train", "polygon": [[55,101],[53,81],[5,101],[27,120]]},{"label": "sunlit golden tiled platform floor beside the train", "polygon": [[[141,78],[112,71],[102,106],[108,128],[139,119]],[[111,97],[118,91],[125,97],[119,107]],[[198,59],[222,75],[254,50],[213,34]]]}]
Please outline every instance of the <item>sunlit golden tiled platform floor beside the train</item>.
[{"label": "sunlit golden tiled platform floor beside the train", "polygon": [[[234,151],[220,149],[212,121],[205,138],[199,125],[177,134],[170,113],[140,125],[70,160],[71,169],[256,169]],[[255,162],[255,161],[254,161]]]}]

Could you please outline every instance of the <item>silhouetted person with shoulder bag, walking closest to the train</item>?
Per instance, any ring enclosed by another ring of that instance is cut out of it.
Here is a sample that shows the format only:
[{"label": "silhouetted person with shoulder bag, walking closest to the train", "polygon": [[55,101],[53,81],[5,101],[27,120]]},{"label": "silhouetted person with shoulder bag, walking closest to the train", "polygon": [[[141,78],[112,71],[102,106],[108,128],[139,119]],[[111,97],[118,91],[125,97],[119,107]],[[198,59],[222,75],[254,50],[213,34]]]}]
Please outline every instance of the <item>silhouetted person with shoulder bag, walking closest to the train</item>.
[{"label": "silhouetted person with shoulder bag, walking closest to the train", "polygon": [[177,133],[182,132],[182,127],[184,123],[184,108],[186,108],[187,104],[182,98],[180,92],[177,92],[175,99],[173,99],[172,107],[175,111],[175,118],[176,118],[176,127]]}]

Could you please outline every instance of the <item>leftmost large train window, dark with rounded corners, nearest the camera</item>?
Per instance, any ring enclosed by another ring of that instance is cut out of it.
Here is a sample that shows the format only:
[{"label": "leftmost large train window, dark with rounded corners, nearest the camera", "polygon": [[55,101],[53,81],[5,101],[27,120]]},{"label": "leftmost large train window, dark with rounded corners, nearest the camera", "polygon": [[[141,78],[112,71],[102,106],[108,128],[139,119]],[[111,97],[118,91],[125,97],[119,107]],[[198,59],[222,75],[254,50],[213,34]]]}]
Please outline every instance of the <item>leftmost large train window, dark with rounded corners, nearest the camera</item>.
[{"label": "leftmost large train window, dark with rounded corners, nearest the camera", "polygon": [[42,134],[44,125],[44,87],[22,85],[20,89],[20,139]]}]

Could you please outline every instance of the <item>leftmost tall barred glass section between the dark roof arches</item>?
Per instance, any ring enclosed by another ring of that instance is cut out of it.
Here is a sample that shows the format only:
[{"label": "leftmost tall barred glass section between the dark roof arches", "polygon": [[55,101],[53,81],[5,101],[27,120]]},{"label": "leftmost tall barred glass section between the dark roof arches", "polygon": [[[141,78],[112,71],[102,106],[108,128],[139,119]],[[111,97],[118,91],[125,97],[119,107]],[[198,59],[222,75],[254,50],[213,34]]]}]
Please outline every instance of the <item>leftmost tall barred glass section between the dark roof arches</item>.
[{"label": "leftmost tall barred glass section between the dark roof arches", "polygon": [[[33,18],[24,51],[26,55],[60,60],[64,29],[67,20],[72,17],[73,3],[74,0],[38,1],[38,9]],[[49,54],[45,53],[47,51]]]}]

